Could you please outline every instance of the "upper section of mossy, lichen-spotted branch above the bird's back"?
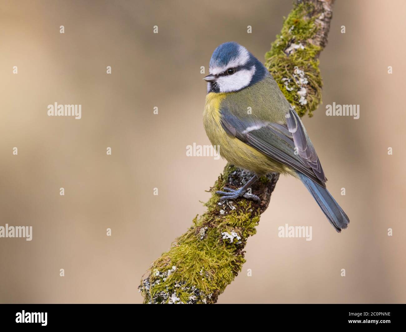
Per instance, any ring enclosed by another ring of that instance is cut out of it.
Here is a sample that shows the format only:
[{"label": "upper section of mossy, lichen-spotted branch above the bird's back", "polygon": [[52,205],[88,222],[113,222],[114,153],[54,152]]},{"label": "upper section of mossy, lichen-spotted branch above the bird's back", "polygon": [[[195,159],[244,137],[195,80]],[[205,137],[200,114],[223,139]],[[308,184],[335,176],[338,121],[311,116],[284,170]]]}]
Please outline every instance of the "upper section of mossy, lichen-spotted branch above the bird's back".
[{"label": "upper section of mossy, lichen-spotted branch above the bird's back", "polygon": [[265,66],[299,116],[313,111],[322,101],[319,54],[330,28],[331,1],[298,1],[283,22]]}]

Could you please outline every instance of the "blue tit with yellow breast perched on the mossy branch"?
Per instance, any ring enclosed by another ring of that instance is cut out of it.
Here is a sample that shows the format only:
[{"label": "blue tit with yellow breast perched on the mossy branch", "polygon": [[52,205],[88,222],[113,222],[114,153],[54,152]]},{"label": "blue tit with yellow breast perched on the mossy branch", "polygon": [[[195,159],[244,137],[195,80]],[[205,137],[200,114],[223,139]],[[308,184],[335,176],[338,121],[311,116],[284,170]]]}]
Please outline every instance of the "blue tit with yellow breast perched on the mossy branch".
[{"label": "blue tit with yellow breast perched on the mossy branch", "polygon": [[326,176],[294,107],[266,67],[235,42],[219,45],[209,62],[203,125],[223,159],[253,177],[241,188],[216,191],[220,201],[246,197],[261,176],[272,172],[300,179],[337,232],[350,219],[326,189]]}]

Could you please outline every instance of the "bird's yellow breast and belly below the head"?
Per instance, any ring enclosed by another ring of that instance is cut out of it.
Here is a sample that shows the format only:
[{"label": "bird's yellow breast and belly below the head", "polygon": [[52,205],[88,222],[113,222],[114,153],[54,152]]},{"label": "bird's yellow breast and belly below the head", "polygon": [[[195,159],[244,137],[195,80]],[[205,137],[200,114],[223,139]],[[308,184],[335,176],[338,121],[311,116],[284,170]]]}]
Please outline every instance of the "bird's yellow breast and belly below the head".
[{"label": "bird's yellow breast and belly below the head", "polygon": [[220,146],[220,155],[235,166],[262,176],[272,171],[286,173],[283,165],[225,132],[221,126],[221,103],[229,93],[210,92],[206,96],[203,124],[212,145]]}]

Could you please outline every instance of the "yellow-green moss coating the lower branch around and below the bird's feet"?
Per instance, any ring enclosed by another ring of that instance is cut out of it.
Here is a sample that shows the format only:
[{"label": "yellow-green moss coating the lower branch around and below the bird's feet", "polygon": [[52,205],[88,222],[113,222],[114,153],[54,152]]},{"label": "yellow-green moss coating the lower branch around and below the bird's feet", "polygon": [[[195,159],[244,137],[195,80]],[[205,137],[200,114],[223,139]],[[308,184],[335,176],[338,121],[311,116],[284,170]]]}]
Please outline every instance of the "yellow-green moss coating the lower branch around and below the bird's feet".
[{"label": "yellow-green moss coating the lower branch around and below the bird's feet", "polygon": [[[240,176],[237,172],[227,164],[210,190],[212,197],[206,203],[205,214],[196,216],[193,226],[152,264],[149,278],[140,286],[146,303],[173,302],[173,294],[176,303],[215,302],[241,271],[245,263],[242,249],[247,238],[256,233],[259,208],[246,199],[219,205],[219,196],[215,194],[233,174]],[[231,234],[235,235],[232,241],[227,237]]]}]

